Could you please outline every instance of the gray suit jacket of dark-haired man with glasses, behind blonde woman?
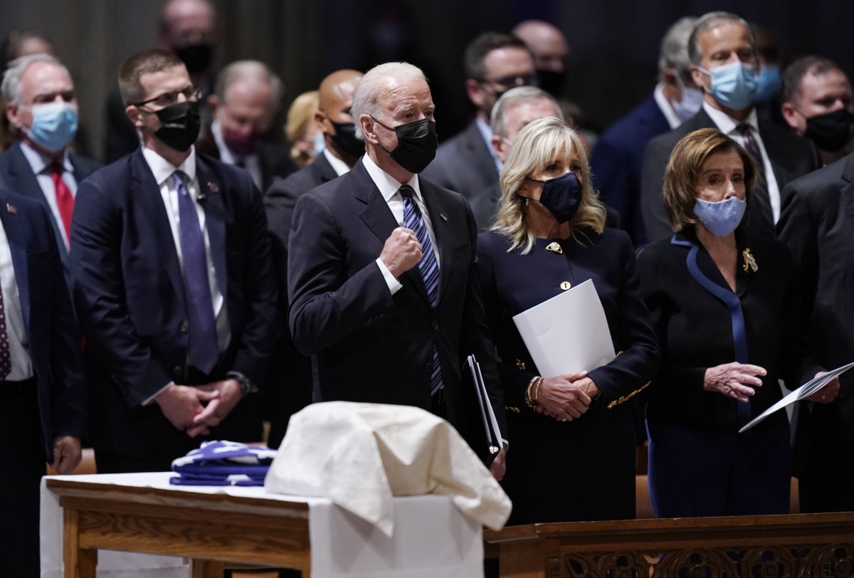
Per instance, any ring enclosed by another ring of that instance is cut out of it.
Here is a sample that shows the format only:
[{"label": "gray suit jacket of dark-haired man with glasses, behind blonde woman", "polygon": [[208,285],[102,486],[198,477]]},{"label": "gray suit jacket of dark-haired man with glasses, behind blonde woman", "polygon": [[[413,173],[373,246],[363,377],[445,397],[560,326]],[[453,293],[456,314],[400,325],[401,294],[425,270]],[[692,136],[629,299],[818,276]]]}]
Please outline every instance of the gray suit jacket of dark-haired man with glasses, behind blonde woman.
[{"label": "gray suit jacket of dark-haired man with glasses, behind blonde woman", "polygon": [[465,196],[470,203],[498,182],[495,161],[473,121],[465,131],[442,143],[436,151],[436,159],[421,174]]}]

